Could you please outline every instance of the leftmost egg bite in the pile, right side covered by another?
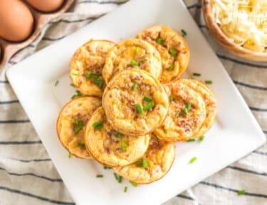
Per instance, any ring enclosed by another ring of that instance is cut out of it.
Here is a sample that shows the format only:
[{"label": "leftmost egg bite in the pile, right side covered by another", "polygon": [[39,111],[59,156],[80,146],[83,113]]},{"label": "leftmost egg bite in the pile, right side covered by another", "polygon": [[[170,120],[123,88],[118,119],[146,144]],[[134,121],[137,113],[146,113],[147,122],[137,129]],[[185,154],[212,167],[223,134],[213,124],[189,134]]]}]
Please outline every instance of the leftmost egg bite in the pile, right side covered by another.
[{"label": "leftmost egg bite in the pile, right side covered by another", "polygon": [[[101,106],[101,100],[93,97],[75,98],[61,110],[57,120],[57,134],[63,147],[70,154],[82,159],[90,159],[91,154],[84,144],[85,125],[93,112]],[[77,120],[82,126],[77,125]],[[75,123],[76,121],[76,123]],[[77,129],[81,128],[78,132]],[[75,134],[75,132],[78,132]]]}]

